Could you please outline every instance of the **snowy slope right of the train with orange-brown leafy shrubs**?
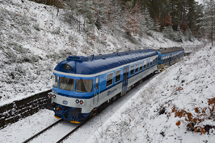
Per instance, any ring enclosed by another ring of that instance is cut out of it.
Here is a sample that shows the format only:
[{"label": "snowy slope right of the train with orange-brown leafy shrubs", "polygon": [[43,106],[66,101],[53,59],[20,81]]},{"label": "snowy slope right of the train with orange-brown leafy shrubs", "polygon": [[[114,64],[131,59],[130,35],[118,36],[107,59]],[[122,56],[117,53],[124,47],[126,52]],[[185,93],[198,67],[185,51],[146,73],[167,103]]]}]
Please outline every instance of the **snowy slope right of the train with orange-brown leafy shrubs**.
[{"label": "snowy slope right of the train with orange-brown leafy shrubs", "polygon": [[[215,47],[204,47],[139,91],[88,142],[213,143]],[[183,111],[183,112],[181,112]],[[180,116],[181,113],[181,116]],[[194,123],[192,130],[189,123]],[[201,128],[210,125],[209,132]],[[204,134],[204,132],[206,132]]]}]

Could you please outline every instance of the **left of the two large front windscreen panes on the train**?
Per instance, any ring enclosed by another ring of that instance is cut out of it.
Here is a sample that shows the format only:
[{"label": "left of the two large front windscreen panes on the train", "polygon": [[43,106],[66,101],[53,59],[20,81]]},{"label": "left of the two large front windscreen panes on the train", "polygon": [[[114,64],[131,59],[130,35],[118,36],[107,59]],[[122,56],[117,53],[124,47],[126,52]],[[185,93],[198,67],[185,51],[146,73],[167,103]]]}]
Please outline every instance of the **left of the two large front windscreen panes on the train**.
[{"label": "left of the two large front windscreen panes on the train", "polygon": [[60,87],[60,89],[63,89],[63,90],[73,91],[74,90],[74,79],[60,77],[59,87]]}]

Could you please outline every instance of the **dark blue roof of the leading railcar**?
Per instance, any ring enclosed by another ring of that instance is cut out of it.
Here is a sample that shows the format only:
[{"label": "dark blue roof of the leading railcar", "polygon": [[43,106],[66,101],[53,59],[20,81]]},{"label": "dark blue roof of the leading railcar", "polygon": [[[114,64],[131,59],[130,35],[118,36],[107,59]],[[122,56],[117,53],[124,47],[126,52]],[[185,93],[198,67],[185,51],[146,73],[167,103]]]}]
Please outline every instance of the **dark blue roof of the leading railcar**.
[{"label": "dark blue roof of the leading railcar", "polygon": [[55,67],[54,73],[96,74],[156,55],[157,50],[144,49],[89,57],[69,56]]}]

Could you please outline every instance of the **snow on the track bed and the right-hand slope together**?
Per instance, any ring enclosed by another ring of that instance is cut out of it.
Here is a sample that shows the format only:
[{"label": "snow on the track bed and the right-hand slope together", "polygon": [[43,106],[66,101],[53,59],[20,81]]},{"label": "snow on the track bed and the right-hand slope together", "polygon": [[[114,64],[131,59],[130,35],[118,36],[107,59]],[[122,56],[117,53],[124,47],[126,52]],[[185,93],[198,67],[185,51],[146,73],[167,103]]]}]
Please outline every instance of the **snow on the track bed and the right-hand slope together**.
[{"label": "snow on the track bed and the right-hand slope together", "polygon": [[[65,142],[213,143],[215,130],[211,129],[209,134],[189,131],[187,125],[190,120],[186,113],[192,114],[192,121],[199,120],[195,125],[197,128],[215,126],[214,111],[213,115],[210,112],[214,105],[208,105],[208,99],[215,97],[214,54],[215,47],[206,46],[184,57],[184,60],[132,89]],[[178,112],[186,111],[184,116],[179,117],[174,108]],[[57,121],[53,115],[52,111],[44,109],[9,125],[0,130],[0,142],[24,141]],[[200,119],[204,120],[200,122]],[[60,128],[53,128],[43,138],[38,137],[32,142],[54,142],[54,139],[62,137],[62,132],[66,134],[72,128],[74,125],[64,122]]]}]

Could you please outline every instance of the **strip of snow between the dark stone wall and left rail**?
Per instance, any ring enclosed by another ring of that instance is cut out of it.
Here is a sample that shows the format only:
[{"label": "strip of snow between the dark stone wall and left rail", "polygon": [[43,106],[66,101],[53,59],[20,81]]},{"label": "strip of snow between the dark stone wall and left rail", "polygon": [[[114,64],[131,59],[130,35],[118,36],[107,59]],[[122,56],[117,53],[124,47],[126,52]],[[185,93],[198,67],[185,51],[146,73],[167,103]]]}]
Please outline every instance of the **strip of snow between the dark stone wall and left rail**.
[{"label": "strip of snow between the dark stone wall and left rail", "polygon": [[39,113],[31,117],[27,117],[1,129],[0,142],[23,142],[33,134],[57,121],[56,118],[50,118],[50,116],[53,117],[54,113],[48,110],[40,110]]}]

